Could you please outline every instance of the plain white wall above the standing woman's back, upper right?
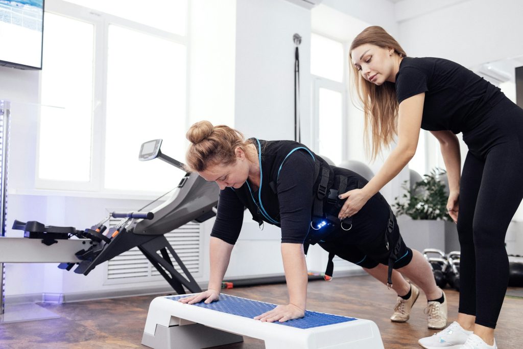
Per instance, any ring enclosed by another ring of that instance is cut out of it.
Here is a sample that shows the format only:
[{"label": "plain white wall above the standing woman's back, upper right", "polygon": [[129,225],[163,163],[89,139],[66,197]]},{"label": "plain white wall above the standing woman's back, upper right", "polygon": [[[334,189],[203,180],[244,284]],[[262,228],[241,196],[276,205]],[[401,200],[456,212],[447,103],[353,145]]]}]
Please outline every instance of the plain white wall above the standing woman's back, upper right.
[{"label": "plain white wall above the standing woman's back, upper right", "polygon": [[[423,2],[408,4],[423,7]],[[458,2],[404,19],[400,43],[412,57],[443,57],[467,67],[515,57],[523,54],[521,13],[520,1]]]}]

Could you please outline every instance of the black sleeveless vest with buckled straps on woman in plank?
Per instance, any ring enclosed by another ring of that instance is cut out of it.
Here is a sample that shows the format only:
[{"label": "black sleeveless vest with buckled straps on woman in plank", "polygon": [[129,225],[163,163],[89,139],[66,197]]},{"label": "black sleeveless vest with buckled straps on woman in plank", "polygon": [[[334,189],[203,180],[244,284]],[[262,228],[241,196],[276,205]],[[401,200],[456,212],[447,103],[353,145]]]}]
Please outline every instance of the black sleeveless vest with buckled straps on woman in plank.
[{"label": "black sleeveless vest with buckled straps on woman in plank", "polygon": [[[242,204],[251,212],[253,219],[261,226],[263,222],[274,224],[280,227],[280,205],[278,201],[277,182],[278,175],[285,161],[293,152],[302,151],[308,153],[314,161],[314,175],[316,180],[311,193],[311,212],[312,221],[305,239],[304,250],[307,253],[308,245],[322,241],[323,237],[332,237],[331,232],[338,231],[338,226],[345,232],[352,228],[351,218],[346,218],[340,222],[337,218],[339,209],[342,207],[338,200],[338,193],[345,193],[348,190],[361,188],[356,177],[346,177],[335,175],[334,168],[320,156],[314,154],[305,145],[294,141],[264,141],[256,138],[249,139],[253,142],[258,152],[258,163],[260,165],[260,185],[258,190],[253,190],[248,181],[234,192]],[[390,209],[390,208],[389,208]],[[345,227],[344,227],[345,224]],[[389,250],[388,234],[394,228],[393,213],[390,210],[390,218],[385,233],[385,243]],[[392,266],[397,257],[397,250],[401,246],[401,237],[392,249],[389,256],[388,284],[392,285]],[[325,280],[331,280],[334,263],[334,253],[329,251]]]}]

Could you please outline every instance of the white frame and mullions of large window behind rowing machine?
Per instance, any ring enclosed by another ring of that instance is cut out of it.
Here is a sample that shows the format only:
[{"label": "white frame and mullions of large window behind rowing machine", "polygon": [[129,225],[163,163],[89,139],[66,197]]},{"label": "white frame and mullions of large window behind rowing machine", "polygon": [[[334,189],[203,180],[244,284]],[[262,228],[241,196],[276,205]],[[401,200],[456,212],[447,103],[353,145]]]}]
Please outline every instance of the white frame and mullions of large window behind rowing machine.
[{"label": "white frame and mullions of large window behind rowing machine", "polygon": [[[39,158],[40,158],[40,115],[37,122],[37,143],[35,152],[35,190],[44,190],[46,192],[56,192],[60,190],[61,194],[68,192],[85,193],[86,196],[92,196],[93,193],[101,193],[103,196],[110,197],[128,197],[143,195],[157,196],[163,194],[160,192],[151,192],[149,190],[120,190],[105,188],[105,136],[106,136],[106,103],[107,100],[107,64],[108,64],[108,33],[109,26],[116,25],[122,28],[143,32],[147,35],[156,36],[162,39],[170,40],[186,47],[186,115],[184,118],[185,125],[189,124],[189,100],[190,100],[190,1],[187,2],[187,20],[185,36],[167,32],[151,26],[140,24],[132,20],[118,17],[115,15],[100,12],[95,9],[83,7],[81,5],[69,3],[63,0],[47,0],[45,12],[59,16],[69,17],[75,20],[84,21],[94,25],[94,73],[93,73],[93,104],[90,134],[90,173],[89,182],[79,181],[62,181],[53,179],[39,178]],[[39,100],[41,102],[41,74],[39,76]],[[59,106],[56,106],[59,107]],[[147,141],[146,139],[143,140]],[[138,154],[139,149],[135,150]],[[173,186],[176,183],[173,182]]]}]

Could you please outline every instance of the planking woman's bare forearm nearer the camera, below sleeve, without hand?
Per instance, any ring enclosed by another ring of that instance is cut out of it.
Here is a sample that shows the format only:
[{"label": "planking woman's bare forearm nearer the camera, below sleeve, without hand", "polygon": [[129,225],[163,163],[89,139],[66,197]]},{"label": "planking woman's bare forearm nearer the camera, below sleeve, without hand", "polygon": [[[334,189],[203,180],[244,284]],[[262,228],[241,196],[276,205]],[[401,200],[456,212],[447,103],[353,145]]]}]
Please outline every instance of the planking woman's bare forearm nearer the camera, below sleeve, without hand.
[{"label": "planking woman's bare forearm nearer the camera, below sleeve, without hand", "polygon": [[289,303],[305,310],[308,276],[303,245],[282,243],[281,256],[289,290]]}]

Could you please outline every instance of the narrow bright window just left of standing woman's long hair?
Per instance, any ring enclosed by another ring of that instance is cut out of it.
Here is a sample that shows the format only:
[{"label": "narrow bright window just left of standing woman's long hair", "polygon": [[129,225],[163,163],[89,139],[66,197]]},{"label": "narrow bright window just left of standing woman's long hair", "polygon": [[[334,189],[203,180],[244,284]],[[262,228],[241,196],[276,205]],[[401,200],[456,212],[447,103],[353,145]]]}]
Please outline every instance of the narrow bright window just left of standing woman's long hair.
[{"label": "narrow bright window just left of standing woman's long hair", "polygon": [[344,46],[311,35],[314,150],[334,164],[346,160],[346,96]]}]

